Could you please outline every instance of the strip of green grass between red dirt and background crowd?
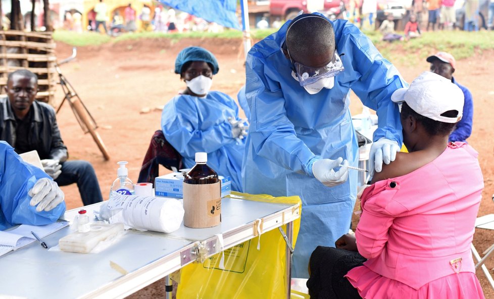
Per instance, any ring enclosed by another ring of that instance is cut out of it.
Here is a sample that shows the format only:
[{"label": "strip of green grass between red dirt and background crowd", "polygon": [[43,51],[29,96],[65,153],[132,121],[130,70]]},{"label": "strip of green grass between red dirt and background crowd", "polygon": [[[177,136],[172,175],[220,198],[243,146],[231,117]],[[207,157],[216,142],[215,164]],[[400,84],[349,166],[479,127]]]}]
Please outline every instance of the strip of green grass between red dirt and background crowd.
[{"label": "strip of green grass between red dirt and background crowd", "polygon": [[[251,31],[254,40],[260,40],[275,32],[274,29]],[[486,49],[494,49],[494,31],[435,31],[424,32],[422,37],[409,41],[396,41],[388,43],[381,40],[382,35],[377,31],[364,31],[379,49],[381,54],[392,62],[400,61],[413,65],[416,59],[424,59],[436,51],[450,52],[456,59],[473,56],[476,52]],[[118,37],[110,37],[105,34],[92,32],[74,33],[69,31],[56,31],[54,39],[74,46],[100,45],[103,43],[118,43],[125,40],[169,38],[177,42],[182,38],[242,38],[242,32],[227,29],[223,32],[185,32],[185,33],[161,33],[138,32],[124,33]],[[407,53],[407,55],[403,55]]]}]

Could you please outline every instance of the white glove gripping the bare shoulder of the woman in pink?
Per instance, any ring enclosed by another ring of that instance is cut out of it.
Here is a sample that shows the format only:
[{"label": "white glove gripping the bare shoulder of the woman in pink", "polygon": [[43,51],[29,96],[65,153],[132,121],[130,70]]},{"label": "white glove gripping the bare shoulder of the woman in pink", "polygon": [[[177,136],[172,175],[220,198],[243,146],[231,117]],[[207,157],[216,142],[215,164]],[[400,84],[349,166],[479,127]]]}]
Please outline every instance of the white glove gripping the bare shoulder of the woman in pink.
[{"label": "white glove gripping the bare shoulder of the woman in pink", "polygon": [[389,164],[394,161],[397,152],[400,152],[400,145],[394,140],[381,138],[373,142],[369,153],[371,177],[374,176],[374,171],[381,172],[383,162]]}]

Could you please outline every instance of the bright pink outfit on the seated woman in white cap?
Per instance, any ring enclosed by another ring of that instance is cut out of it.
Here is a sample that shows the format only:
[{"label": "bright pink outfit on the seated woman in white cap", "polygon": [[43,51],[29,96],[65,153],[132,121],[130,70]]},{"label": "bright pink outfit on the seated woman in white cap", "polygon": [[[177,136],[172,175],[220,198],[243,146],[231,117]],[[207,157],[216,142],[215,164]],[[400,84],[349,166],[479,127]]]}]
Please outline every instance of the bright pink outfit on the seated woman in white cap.
[{"label": "bright pink outfit on the seated woman in white cap", "polygon": [[478,153],[450,143],[434,161],[361,196],[368,260],[345,277],[363,298],[484,298],[470,244],[483,189]]}]

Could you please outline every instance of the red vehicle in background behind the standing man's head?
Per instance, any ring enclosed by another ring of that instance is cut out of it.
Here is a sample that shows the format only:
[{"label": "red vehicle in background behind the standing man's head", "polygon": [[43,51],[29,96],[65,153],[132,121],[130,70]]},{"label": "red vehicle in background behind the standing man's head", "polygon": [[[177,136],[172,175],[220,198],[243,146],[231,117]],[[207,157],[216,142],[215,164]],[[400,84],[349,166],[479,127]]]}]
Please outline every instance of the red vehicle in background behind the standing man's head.
[{"label": "red vehicle in background behind the standing man's head", "polygon": [[319,12],[328,14],[331,9],[340,7],[340,0],[271,0],[269,3],[269,14],[271,16],[280,17],[283,20],[290,20],[297,16],[300,11],[309,13],[307,4],[321,6],[324,2],[324,8]]}]

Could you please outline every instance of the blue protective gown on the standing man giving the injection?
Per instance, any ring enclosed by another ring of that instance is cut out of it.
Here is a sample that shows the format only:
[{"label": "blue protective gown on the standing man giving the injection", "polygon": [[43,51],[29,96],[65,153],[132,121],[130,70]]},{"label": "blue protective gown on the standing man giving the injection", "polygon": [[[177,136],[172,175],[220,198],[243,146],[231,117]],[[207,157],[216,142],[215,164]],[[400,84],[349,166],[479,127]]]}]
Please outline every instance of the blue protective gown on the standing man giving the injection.
[{"label": "blue protective gown on the standing man giving the injection", "polygon": [[406,82],[356,26],[336,20],[332,22],[336,48],[345,70],[335,77],[332,89],[310,95],[291,76],[290,62],[281,51],[289,24],[255,44],[247,58],[251,123],[242,180],[248,193],[302,198],[292,275],[308,278],[309,257],[316,246],[334,246],[348,232],[357,193],[356,171],[350,170],[347,182],[329,188],[314,178],[312,162],[342,157],[357,166],[350,88],[377,111],[374,140],[386,137],[401,144],[399,111],[390,96]]}]

